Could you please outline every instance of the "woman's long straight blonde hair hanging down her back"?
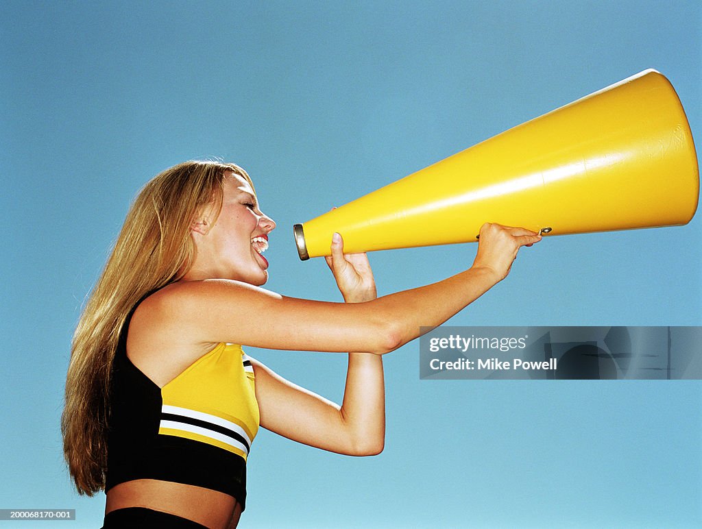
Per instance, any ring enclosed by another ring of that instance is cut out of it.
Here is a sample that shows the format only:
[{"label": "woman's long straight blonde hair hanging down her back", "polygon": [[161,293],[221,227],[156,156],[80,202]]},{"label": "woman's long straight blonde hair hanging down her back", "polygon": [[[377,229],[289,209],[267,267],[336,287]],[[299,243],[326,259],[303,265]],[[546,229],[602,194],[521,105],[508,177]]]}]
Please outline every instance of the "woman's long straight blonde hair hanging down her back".
[{"label": "woman's long straight blonde hair hanging down her back", "polygon": [[194,216],[222,206],[227,173],[251,178],[234,163],[187,161],[165,170],[143,187],[132,204],[112,255],[81,314],[71,347],[63,451],[80,494],[105,488],[110,377],[119,335],[138,301],[178,281],[192,266]]}]

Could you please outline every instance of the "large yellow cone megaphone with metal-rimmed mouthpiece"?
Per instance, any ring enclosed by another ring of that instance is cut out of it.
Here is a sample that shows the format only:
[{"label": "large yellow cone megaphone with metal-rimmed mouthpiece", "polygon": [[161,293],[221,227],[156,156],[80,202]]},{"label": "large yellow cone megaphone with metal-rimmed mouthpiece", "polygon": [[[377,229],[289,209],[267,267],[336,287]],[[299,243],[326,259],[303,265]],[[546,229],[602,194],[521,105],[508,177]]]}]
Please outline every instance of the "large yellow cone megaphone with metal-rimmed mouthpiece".
[{"label": "large yellow cone megaphone with metal-rimmed mouthpiece", "polygon": [[484,222],[551,235],[687,224],[699,173],[675,89],[653,69],[294,226],[300,259],[476,241]]}]

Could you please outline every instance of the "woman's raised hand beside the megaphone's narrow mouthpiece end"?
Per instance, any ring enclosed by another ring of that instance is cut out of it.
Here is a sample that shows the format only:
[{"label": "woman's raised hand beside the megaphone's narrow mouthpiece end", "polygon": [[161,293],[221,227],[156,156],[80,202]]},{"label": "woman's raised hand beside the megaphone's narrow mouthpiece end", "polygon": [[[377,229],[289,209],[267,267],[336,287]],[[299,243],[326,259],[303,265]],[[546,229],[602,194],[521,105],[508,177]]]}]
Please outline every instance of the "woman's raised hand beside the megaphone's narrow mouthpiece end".
[{"label": "woman's raised hand beside the megaphone's narrow mouthpiece end", "polygon": [[344,241],[340,234],[334,234],[331,255],[324,258],[345,302],[360,303],[376,299],[376,281],[365,253],[344,254]]}]

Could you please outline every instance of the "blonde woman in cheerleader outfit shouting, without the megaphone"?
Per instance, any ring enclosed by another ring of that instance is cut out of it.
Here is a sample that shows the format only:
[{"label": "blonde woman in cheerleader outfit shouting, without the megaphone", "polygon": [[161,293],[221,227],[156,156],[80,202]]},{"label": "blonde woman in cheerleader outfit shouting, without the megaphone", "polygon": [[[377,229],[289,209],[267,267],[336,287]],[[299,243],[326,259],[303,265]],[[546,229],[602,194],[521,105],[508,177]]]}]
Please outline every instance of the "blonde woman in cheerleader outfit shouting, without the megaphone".
[{"label": "blonde woman in cheerleader outfit shouting, without the megaphone", "polygon": [[[383,450],[382,354],[438,326],[507,276],[526,229],[486,224],[470,269],[376,299],[365,254],[333,236],[345,303],[260,288],[275,223],[246,172],[190,161],[147,183],[74,335],[65,457],[79,493],[105,490],[105,528],[233,528],[259,425],[324,450]],[[279,377],[241,345],[350,351],[338,406]]]}]

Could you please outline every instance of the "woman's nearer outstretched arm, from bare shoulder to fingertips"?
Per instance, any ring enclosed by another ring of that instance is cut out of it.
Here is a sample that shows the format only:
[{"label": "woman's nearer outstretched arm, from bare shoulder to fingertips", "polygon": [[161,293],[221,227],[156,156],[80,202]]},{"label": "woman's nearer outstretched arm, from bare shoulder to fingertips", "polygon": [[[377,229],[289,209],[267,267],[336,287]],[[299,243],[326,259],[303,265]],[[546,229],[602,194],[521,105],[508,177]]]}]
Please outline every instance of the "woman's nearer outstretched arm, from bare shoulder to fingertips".
[{"label": "woman's nearer outstretched arm, from bare shoulder to fingertips", "polygon": [[526,229],[484,225],[470,269],[363,303],[301,300],[238,281],[206,280],[174,283],[140,309],[150,307],[144,324],[168,341],[385,353],[418,337],[420,326],[439,326],[476,300],[508,274],[520,246],[539,240]]}]

